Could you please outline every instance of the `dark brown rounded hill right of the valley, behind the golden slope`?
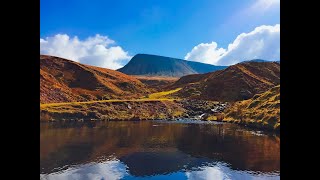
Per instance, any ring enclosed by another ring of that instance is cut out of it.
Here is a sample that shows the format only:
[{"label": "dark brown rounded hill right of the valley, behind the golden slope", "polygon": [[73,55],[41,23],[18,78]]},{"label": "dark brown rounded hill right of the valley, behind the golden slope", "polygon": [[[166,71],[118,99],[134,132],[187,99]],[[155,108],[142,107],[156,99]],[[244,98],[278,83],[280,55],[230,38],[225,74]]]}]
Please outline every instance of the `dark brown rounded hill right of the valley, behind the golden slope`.
[{"label": "dark brown rounded hill right of the valley, behind the golden slope", "polygon": [[217,101],[249,99],[280,84],[277,62],[242,62],[224,70],[181,77],[168,89],[181,87],[173,96]]}]

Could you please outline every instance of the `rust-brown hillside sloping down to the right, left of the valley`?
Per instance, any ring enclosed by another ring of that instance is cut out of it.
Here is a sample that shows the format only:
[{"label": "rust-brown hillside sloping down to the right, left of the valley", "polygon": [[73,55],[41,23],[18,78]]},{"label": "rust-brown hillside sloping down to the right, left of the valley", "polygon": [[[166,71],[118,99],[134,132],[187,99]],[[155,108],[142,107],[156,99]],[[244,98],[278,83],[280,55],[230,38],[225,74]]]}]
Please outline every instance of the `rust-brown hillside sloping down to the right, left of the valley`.
[{"label": "rust-brown hillside sloping down to the right, left of the valley", "polygon": [[40,103],[134,98],[148,91],[121,72],[40,55]]}]

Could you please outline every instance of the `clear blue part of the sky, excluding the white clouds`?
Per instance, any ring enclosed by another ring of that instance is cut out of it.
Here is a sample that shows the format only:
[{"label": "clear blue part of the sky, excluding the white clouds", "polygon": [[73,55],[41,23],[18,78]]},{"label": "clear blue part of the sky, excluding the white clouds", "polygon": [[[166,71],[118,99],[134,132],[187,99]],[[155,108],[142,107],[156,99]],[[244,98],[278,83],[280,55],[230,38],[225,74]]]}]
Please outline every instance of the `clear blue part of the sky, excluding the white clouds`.
[{"label": "clear blue part of the sky, excluding the white clouds", "polygon": [[241,33],[280,24],[279,7],[279,0],[40,0],[40,38],[107,36],[126,52],[120,64],[137,53],[188,59],[201,43],[227,50]]}]

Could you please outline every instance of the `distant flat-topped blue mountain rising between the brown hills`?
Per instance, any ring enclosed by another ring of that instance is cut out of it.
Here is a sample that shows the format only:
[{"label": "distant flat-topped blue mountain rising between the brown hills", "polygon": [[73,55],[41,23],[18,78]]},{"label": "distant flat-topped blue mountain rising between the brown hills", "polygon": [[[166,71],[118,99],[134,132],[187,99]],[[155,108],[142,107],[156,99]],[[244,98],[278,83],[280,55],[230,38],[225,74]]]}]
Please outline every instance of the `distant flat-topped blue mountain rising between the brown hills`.
[{"label": "distant flat-topped blue mountain rising between the brown hills", "polygon": [[137,54],[118,71],[130,75],[181,77],[225,69],[227,66],[214,66],[182,59]]}]

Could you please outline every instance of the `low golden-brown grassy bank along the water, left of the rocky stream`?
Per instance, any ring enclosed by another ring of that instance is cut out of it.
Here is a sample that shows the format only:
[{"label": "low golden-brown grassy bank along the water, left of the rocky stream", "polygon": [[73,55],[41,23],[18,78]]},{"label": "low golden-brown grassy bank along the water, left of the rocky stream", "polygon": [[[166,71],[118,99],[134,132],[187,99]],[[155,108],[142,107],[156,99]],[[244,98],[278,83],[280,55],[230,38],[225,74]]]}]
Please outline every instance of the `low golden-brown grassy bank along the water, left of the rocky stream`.
[{"label": "low golden-brown grassy bank along the water, left of the rocky stream", "polygon": [[172,100],[104,101],[51,104],[40,108],[41,121],[146,120],[181,117],[184,109]]}]

